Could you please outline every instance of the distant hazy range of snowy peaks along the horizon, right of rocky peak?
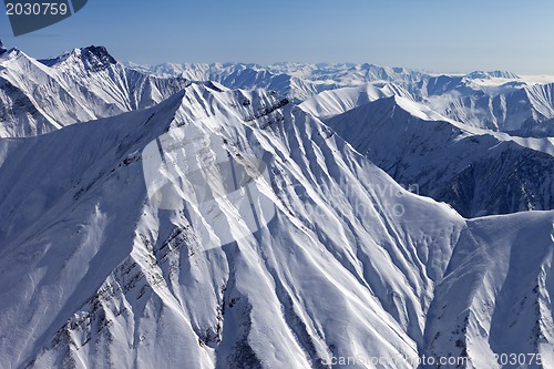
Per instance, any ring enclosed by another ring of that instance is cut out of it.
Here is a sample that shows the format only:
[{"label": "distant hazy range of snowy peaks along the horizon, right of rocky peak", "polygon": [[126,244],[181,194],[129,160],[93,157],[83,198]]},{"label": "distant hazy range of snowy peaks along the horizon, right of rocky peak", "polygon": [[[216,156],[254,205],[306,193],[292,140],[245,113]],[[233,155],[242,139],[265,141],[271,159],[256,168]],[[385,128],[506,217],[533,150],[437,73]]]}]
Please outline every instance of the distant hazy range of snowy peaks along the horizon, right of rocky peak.
[{"label": "distant hazy range of snowy peaks along the horizon, right of rocky peak", "polygon": [[294,102],[311,100],[319,94],[325,101],[329,99],[329,91],[366,84],[382,88],[387,83],[400,96],[409,94],[442,115],[474,127],[521,136],[554,136],[551,122],[554,119],[554,78],[550,79],[551,83],[537,83],[533,78],[505,71],[435,75],[367,63],[130,65],[162,76],[217,81],[230,89],[274,90]]}]

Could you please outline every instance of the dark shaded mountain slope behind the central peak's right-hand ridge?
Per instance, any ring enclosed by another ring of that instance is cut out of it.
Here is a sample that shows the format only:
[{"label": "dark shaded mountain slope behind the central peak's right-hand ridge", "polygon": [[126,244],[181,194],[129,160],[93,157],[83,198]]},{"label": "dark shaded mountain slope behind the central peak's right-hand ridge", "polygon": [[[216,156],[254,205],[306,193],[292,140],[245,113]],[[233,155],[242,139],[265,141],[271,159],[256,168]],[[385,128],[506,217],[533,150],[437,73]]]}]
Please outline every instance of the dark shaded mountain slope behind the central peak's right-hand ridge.
[{"label": "dark shaded mountain slope behind the central peak's right-hand ridge", "polygon": [[327,123],[397,182],[466,217],[554,208],[554,150],[546,139],[472,130],[398,96]]}]

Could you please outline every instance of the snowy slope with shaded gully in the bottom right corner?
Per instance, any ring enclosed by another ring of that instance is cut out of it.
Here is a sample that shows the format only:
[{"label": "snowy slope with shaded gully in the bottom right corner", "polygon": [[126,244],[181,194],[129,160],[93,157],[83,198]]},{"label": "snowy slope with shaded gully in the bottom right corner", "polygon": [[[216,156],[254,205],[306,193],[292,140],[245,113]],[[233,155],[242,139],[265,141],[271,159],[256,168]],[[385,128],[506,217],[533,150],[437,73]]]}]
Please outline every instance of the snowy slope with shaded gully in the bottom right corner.
[{"label": "snowy slope with shaded gully in the bottom right corner", "polygon": [[552,213],[469,222],[437,286],[428,356],[466,357],[468,368],[554,366]]}]

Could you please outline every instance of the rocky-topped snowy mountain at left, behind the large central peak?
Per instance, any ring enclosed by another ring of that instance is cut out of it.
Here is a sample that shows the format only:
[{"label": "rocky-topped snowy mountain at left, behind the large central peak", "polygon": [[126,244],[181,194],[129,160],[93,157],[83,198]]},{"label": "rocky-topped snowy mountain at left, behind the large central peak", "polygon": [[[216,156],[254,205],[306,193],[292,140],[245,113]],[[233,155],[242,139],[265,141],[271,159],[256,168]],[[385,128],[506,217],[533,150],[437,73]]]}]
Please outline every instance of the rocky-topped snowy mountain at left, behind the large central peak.
[{"label": "rocky-topped snowy mountain at left, behind the large central peak", "polygon": [[0,136],[32,136],[153,106],[188,83],[126,69],[101,47],[45,61],[11,49],[0,54]]}]

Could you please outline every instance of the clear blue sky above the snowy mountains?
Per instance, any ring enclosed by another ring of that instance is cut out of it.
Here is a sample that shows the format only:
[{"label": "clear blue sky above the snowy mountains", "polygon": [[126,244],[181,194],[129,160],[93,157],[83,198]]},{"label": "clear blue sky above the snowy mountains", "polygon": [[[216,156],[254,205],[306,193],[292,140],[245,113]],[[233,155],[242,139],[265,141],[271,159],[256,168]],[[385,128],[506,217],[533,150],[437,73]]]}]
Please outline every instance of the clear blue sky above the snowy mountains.
[{"label": "clear blue sky above the snowy mountains", "polygon": [[434,72],[554,75],[553,0],[89,0],[75,16],[14,38],[37,57],[90,44],[119,60],[369,62]]}]

